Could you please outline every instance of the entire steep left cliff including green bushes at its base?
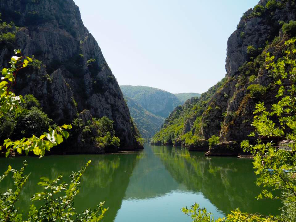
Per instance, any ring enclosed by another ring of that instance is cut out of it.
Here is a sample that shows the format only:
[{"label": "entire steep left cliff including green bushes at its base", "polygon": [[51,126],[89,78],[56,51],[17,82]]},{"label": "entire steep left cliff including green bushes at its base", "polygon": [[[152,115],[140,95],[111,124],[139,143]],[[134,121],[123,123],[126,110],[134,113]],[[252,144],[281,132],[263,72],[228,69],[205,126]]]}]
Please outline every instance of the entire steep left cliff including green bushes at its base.
[{"label": "entire steep left cliff including green bushes at its base", "polygon": [[[117,81],[73,0],[0,0],[0,13],[1,68],[8,67],[14,49],[33,58],[13,87],[28,95],[29,105],[19,119],[0,120],[0,138],[38,136],[49,126],[71,123],[62,152],[141,147]],[[120,139],[120,148],[112,138]]]}]

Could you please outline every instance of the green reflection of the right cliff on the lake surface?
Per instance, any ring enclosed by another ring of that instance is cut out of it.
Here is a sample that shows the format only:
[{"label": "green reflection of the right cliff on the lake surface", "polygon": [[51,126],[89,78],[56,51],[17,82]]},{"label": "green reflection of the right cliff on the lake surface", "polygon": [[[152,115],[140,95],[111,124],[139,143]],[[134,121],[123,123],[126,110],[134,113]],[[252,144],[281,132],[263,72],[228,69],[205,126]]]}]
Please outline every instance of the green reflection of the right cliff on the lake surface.
[{"label": "green reflection of the right cliff on the lake surface", "polygon": [[[243,212],[278,213],[280,202],[257,200],[252,160],[228,157],[207,158],[203,152],[189,152],[172,146],[152,146],[171,176],[190,191],[199,192],[224,214],[235,208]],[[196,202],[199,202],[197,199]]]}]

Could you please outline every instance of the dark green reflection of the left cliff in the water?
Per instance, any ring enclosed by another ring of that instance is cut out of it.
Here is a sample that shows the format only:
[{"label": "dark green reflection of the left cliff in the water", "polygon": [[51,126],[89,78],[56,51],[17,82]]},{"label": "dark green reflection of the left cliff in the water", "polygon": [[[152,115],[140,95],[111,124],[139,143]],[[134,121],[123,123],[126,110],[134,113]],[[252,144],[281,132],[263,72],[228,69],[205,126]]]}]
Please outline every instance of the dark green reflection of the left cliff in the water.
[{"label": "dark green reflection of the left cliff in the water", "polygon": [[[5,169],[8,165],[17,168],[21,166],[23,160],[27,160],[26,172],[31,172],[31,175],[21,193],[18,206],[27,206],[26,209],[28,210],[29,204],[31,204],[30,197],[42,190],[37,185],[41,176],[53,179],[63,173],[64,181],[69,182],[68,176],[72,171],[80,170],[80,167],[91,159],[92,163],[82,177],[80,193],[76,196],[75,208],[80,212],[85,208],[94,208],[105,200],[105,207],[109,207],[109,210],[105,214],[104,220],[113,221],[125,196],[130,175],[139,160],[137,155],[135,153],[126,155],[47,156],[42,159],[34,157],[2,158],[0,169]],[[9,178],[0,183],[1,191],[5,187],[13,187],[13,183]],[[27,210],[24,211],[25,215]]]}]

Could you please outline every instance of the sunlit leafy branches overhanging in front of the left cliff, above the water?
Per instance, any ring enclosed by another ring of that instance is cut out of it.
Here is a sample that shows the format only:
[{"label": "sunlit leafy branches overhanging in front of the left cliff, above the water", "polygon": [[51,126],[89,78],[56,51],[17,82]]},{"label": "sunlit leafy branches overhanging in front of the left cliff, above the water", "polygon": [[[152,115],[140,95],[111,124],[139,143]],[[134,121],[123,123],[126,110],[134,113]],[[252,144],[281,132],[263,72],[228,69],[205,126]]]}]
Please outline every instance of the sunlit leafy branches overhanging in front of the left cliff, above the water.
[{"label": "sunlit leafy branches overhanging in front of the left cliff, above the water", "polygon": [[[20,51],[15,51],[20,54]],[[12,86],[16,83],[16,76],[19,70],[26,68],[32,61],[29,57],[13,56],[10,61],[10,68],[2,69],[2,77],[0,82],[0,118],[13,113],[16,117],[22,112],[21,103],[24,103],[23,97],[17,96],[12,92]],[[33,117],[33,118],[36,118]],[[25,152],[26,155],[33,151],[35,155],[42,157],[45,151],[49,151],[53,146],[59,145],[64,138],[68,138],[69,134],[66,129],[71,129],[71,125],[57,126],[55,129],[51,127],[48,132],[43,133],[39,137],[33,135],[31,138],[22,138],[20,140],[12,141],[10,139],[4,140],[3,146],[0,150],[6,148],[6,157],[11,151],[17,151],[19,154]]]}]

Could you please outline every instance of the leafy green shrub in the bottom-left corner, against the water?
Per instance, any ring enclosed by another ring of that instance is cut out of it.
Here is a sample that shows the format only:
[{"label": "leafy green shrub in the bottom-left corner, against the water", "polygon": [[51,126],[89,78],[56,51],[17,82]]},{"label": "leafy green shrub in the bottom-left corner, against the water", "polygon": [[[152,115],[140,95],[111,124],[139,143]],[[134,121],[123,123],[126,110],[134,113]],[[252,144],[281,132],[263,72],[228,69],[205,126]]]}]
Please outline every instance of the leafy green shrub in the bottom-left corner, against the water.
[{"label": "leafy green shrub in the bottom-left corner, against the water", "polygon": [[[95,210],[86,209],[82,213],[77,213],[74,208],[74,198],[79,193],[81,176],[88,167],[89,163],[82,167],[80,171],[73,172],[70,175],[71,183],[67,184],[60,182],[63,175],[59,175],[56,179],[50,180],[49,178],[42,177],[38,185],[44,187],[44,191],[36,193],[31,198],[31,201],[40,201],[42,203],[40,208],[34,204],[30,205],[30,211],[27,215],[26,222],[31,221],[99,221],[103,218],[104,213],[108,210],[103,208],[104,203],[100,203]],[[24,174],[27,163],[23,163],[20,170],[12,169],[10,166],[0,177],[0,182],[9,173],[12,173],[14,180],[14,190],[7,189],[5,193],[0,193],[0,220],[1,221],[14,221],[21,222],[23,215],[21,211],[15,208],[20,192],[29,179],[29,175]],[[63,192],[64,195],[60,193]]]}]

